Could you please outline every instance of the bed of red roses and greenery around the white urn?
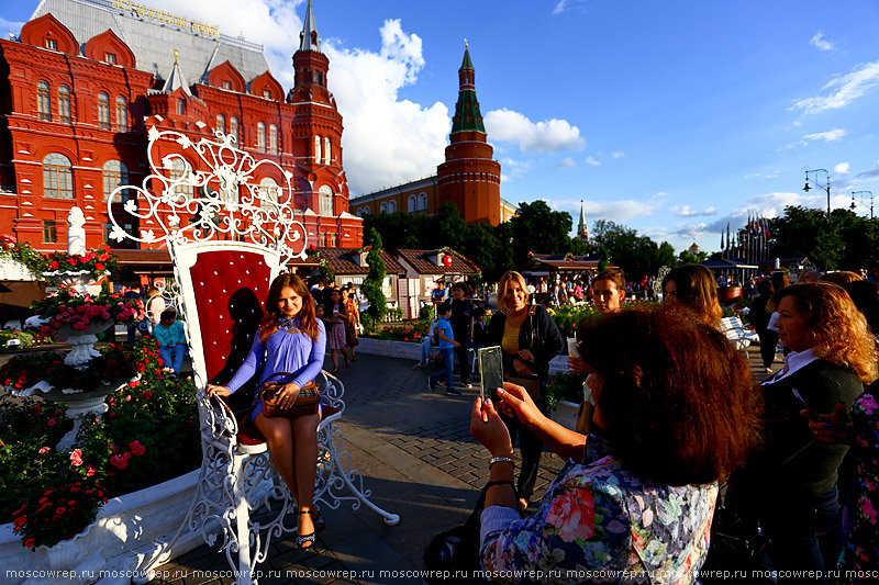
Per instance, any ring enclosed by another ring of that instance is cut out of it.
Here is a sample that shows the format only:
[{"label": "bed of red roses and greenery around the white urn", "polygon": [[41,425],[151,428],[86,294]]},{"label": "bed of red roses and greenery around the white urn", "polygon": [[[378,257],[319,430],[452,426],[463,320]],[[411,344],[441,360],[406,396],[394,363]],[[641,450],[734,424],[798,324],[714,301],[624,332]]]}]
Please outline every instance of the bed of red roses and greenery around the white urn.
[{"label": "bed of red roses and greenery around the white urn", "polygon": [[93,521],[108,498],[198,468],[194,385],[165,376],[155,340],[105,348],[87,370],[66,367],[55,353],[20,356],[0,368],[0,382],[13,387],[47,380],[88,389],[116,375],[133,379],[108,396],[103,416],[86,420],[73,450],[53,449],[71,425],[66,405],[0,398],[0,524],[13,522],[25,547],[52,547]]}]

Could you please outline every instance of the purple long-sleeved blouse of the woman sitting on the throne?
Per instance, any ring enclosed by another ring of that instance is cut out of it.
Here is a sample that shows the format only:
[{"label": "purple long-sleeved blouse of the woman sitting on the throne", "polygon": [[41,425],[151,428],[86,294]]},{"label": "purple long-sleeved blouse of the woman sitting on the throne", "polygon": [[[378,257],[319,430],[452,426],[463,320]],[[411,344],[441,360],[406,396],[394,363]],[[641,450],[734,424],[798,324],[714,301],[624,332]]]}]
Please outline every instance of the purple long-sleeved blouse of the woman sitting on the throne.
[{"label": "purple long-sleeved blouse of the woman sitting on the throne", "polygon": [[[299,319],[293,319],[293,323],[298,325]],[[312,339],[305,333],[292,333],[291,329],[278,329],[266,339],[265,346],[259,338],[260,335],[257,331],[251,352],[235,372],[232,381],[226,384],[230,393],[234,393],[247,382],[264,361],[265,368],[259,378],[260,384],[277,372],[290,372],[293,374],[291,382],[302,387],[321,373],[323,358],[326,353],[326,330],[320,320],[318,322],[318,339]]]}]

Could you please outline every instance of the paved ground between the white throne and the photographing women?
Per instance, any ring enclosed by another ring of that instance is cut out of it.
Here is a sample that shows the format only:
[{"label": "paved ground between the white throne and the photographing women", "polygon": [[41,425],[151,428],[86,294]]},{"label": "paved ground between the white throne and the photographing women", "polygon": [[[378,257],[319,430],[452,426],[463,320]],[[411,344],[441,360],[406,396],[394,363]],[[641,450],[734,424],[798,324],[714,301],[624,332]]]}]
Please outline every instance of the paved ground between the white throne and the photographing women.
[{"label": "paved ground between the white throne and the photographing women", "polygon": [[[766,378],[757,348],[749,350],[749,363],[757,381]],[[776,369],[779,364],[777,359]],[[292,537],[276,541],[256,567],[260,584],[422,583],[424,547],[466,520],[488,479],[488,453],[469,434],[478,386],[458,386],[461,396],[439,389],[431,393],[431,371],[412,370],[408,360],[364,355],[340,369],[347,405],[340,424],[342,449],[363,474],[371,500],[399,514],[400,524],[386,526],[351,503],[324,507],[326,530],[313,550],[298,550]],[[544,453],[535,499],[560,466],[558,457]],[[159,567],[151,584],[227,585],[235,581],[230,572],[225,553],[205,544]]]}]

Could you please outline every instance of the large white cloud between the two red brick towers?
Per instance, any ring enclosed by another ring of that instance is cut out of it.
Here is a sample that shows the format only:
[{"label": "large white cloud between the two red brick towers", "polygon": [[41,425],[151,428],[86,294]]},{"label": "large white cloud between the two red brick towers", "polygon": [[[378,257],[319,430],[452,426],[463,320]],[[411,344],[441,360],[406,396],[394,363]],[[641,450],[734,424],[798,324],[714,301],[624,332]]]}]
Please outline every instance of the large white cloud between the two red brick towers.
[{"label": "large white cloud between the two red brick towers", "polygon": [[345,123],[345,172],[352,194],[400,184],[436,172],[450,128],[448,109],[400,100],[424,67],[421,38],[403,32],[399,20],[379,30],[381,49],[345,48],[334,40],[322,49]]}]

